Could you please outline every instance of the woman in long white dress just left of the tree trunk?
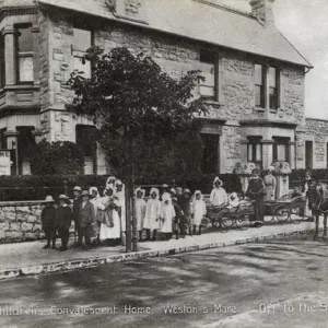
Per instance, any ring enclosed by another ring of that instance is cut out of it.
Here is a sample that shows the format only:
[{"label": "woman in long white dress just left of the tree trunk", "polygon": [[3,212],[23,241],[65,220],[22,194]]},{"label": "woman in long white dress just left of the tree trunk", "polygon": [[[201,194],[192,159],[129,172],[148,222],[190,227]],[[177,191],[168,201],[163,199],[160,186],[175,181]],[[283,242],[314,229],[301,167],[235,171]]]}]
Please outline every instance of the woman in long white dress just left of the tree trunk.
[{"label": "woman in long white dress just left of the tree trunk", "polygon": [[102,216],[99,239],[109,241],[110,245],[114,246],[115,241],[120,238],[120,220],[117,197],[114,195],[114,186],[107,186],[97,214]]}]

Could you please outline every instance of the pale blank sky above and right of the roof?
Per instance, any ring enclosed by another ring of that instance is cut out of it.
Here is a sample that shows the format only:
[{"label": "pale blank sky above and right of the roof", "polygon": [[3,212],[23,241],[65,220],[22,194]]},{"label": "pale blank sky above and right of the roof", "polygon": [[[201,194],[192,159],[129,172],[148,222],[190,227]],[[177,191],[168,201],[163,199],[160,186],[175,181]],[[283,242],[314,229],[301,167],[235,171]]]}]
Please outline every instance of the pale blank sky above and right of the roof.
[{"label": "pale blank sky above and right of the roof", "polygon": [[[250,12],[248,0],[221,0]],[[314,66],[305,79],[305,115],[328,119],[328,0],[276,0],[276,26]]]}]

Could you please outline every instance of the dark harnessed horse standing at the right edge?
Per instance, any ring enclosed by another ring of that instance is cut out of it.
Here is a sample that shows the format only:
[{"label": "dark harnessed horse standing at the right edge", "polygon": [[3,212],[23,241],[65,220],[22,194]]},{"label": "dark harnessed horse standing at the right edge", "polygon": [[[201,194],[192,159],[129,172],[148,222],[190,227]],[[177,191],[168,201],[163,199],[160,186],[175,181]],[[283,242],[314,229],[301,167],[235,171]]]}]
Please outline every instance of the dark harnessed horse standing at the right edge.
[{"label": "dark harnessed horse standing at the right edge", "polygon": [[[308,190],[311,191],[311,190]],[[314,194],[315,192],[315,194]],[[315,218],[315,235],[314,239],[318,238],[319,235],[319,216],[324,215],[324,234],[323,238],[327,239],[327,216],[328,216],[328,189],[327,186],[318,183],[314,189],[313,195],[308,192],[309,204],[312,209],[313,216]],[[313,197],[311,197],[313,196]],[[313,201],[311,201],[313,200]]]}]

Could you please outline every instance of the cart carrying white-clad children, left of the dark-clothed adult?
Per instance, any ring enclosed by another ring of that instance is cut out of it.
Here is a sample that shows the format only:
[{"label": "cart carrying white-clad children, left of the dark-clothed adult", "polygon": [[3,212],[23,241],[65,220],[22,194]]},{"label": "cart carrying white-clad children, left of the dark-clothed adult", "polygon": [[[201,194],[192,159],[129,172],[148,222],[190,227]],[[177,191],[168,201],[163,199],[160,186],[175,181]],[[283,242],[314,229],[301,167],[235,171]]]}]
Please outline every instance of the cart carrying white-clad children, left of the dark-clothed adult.
[{"label": "cart carrying white-clad children, left of the dark-clothed adult", "polygon": [[248,229],[245,224],[249,216],[254,214],[254,206],[251,201],[242,201],[237,207],[213,207],[208,206],[207,216],[214,227],[231,229],[237,226],[241,230]]}]

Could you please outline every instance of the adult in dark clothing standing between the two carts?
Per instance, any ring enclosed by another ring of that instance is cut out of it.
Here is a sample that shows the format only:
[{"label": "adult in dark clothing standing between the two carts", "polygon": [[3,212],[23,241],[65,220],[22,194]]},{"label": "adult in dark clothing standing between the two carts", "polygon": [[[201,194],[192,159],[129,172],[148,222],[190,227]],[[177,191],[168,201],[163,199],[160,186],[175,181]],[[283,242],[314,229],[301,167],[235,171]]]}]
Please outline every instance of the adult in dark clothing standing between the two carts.
[{"label": "adult in dark clothing standing between the two carts", "polygon": [[263,180],[259,177],[259,169],[254,168],[251,171],[251,178],[249,180],[248,189],[246,191],[246,196],[250,199],[255,200],[254,202],[254,218],[251,221],[254,222],[254,227],[259,227],[262,225],[265,220],[265,195],[266,187]]}]

